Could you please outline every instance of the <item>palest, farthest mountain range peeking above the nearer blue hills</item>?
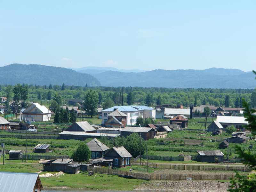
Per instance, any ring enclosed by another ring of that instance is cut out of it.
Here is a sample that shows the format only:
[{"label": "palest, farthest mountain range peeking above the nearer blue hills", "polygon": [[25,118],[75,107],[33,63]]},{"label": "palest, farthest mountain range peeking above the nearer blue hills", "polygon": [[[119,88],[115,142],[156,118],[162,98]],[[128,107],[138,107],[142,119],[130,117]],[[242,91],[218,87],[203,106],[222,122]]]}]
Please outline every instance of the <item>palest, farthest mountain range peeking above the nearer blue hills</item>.
[{"label": "palest, farthest mountain range peeking above the nearer blue hills", "polygon": [[141,70],[141,69],[117,69],[114,67],[83,67],[83,68],[71,68],[79,73],[88,73],[90,75],[97,75],[100,73],[103,73],[105,71],[118,71],[118,72],[124,72],[124,73],[140,73],[144,72],[146,70]]}]

